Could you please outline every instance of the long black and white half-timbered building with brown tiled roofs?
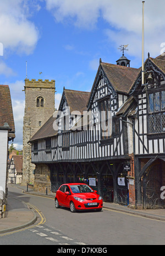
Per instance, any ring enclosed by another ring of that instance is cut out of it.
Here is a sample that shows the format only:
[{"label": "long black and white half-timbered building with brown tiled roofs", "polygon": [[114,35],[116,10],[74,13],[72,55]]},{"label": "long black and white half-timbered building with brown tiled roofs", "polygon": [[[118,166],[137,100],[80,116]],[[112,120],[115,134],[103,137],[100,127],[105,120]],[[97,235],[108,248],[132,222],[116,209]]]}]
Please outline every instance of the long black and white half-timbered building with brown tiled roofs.
[{"label": "long black and white half-timbered building with brown tiled roofs", "polygon": [[64,88],[59,110],[30,139],[36,189],[83,182],[104,201],[163,207],[165,60],[147,58],[145,84],[128,62],[100,60],[90,93]]}]

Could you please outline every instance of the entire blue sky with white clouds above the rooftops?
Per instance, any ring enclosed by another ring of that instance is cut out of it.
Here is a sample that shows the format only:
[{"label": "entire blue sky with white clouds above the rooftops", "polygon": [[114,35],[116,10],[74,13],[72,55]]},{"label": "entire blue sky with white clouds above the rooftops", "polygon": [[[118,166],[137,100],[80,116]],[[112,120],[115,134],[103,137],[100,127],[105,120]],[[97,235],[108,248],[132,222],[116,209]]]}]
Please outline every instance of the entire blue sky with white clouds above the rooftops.
[{"label": "entire blue sky with white clouds above the rooftops", "polygon": [[[26,61],[27,78],[56,80],[56,108],[63,87],[90,91],[100,58],[116,64],[122,56],[119,45],[128,44],[125,56],[131,67],[141,66],[141,0],[0,3],[0,78],[1,84],[10,87],[18,150],[22,148]],[[164,9],[164,0],[145,1],[145,59],[148,52],[156,57],[165,51]]]}]

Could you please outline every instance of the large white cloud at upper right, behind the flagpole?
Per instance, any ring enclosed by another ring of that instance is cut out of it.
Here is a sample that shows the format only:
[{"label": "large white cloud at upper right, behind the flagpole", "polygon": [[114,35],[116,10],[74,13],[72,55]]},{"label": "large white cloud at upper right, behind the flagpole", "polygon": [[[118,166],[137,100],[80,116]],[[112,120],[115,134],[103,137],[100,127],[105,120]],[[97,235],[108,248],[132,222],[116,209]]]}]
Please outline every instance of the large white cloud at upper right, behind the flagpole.
[{"label": "large white cloud at upper right, behind the flagpole", "polygon": [[[45,0],[57,22],[72,22],[79,28],[95,28],[103,18],[108,39],[116,46],[129,44],[129,54],[141,56],[142,2],[130,0]],[[151,56],[160,54],[165,42],[164,0],[145,1],[145,49]]]}]

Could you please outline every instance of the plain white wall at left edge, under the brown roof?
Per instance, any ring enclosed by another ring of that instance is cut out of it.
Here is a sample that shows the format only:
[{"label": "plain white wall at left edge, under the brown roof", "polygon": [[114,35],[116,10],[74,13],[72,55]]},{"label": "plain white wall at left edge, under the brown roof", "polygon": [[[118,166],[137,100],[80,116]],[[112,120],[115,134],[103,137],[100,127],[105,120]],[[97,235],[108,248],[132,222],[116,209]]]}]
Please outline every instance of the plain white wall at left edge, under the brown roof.
[{"label": "plain white wall at left edge, under the brown roof", "polygon": [[7,175],[8,130],[0,130],[0,199],[4,199]]}]

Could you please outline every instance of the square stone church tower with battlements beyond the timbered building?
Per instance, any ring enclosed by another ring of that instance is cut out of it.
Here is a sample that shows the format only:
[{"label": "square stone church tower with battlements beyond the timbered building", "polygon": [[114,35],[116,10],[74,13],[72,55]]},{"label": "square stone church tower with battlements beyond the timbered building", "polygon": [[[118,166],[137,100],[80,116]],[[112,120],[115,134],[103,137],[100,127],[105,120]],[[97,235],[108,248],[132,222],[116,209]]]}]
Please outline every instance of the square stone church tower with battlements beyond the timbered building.
[{"label": "square stone church tower with battlements beyond the timbered building", "polygon": [[53,115],[55,110],[55,81],[25,79],[25,113],[23,124],[23,184],[34,183],[35,164],[31,163],[30,138]]}]

